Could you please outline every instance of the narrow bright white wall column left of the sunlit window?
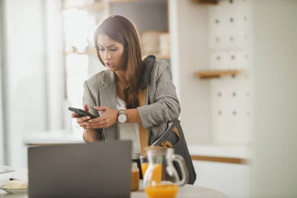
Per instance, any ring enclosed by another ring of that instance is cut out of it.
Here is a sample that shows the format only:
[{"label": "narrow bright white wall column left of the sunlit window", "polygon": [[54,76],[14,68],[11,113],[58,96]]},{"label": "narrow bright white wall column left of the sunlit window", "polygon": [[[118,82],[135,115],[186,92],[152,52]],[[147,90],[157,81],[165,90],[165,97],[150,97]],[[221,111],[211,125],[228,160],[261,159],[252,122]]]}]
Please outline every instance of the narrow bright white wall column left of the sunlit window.
[{"label": "narrow bright white wall column left of the sunlit window", "polygon": [[[48,96],[48,127],[49,130],[63,128],[63,114],[68,109],[64,105],[64,65],[63,65],[63,38],[61,21],[61,0],[45,0],[46,3],[46,73]],[[68,114],[67,114],[68,115]]]}]

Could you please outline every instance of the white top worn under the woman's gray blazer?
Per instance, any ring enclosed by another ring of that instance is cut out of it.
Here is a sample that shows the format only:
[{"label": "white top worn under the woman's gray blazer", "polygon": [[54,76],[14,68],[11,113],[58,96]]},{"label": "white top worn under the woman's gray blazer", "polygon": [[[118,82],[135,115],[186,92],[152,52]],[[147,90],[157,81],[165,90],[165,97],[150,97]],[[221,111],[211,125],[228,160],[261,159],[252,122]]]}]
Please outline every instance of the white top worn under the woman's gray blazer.
[{"label": "white top worn under the woman's gray blazer", "polygon": [[[126,102],[116,97],[116,108],[126,109]],[[117,123],[116,133],[120,140],[132,140],[132,159],[139,159],[141,155],[138,123]]]}]

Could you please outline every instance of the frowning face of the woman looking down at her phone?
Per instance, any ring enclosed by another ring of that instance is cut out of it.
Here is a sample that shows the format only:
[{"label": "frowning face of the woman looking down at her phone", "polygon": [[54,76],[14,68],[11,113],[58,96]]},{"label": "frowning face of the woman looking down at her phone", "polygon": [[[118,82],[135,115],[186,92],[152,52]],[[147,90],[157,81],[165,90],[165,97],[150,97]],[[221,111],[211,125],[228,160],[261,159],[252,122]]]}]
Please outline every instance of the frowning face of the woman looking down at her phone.
[{"label": "frowning face of the woman looking down at her phone", "polygon": [[101,59],[110,71],[117,71],[124,68],[125,46],[118,43],[104,34],[98,37],[98,48]]}]

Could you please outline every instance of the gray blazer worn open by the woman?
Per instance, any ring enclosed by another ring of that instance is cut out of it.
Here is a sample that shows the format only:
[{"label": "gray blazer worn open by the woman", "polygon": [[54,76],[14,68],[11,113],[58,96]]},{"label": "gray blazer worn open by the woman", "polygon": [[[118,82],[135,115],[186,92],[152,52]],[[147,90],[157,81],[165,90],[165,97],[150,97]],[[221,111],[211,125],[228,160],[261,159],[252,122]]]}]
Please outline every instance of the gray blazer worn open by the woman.
[{"label": "gray blazer worn open by the woman", "polygon": [[[146,105],[137,107],[144,128],[148,129],[148,145],[157,140],[166,130],[167,123],[178,119],[181,111],[175,86],[171,82],[169,64],[156,60],[148,76]],[[90,113],[102,115],[94,106],[116,109],[115,73],[101,71],[84,82],[83,103],[90,107]],[[101,140],[116,140],[116,124],[103,129]]]}]

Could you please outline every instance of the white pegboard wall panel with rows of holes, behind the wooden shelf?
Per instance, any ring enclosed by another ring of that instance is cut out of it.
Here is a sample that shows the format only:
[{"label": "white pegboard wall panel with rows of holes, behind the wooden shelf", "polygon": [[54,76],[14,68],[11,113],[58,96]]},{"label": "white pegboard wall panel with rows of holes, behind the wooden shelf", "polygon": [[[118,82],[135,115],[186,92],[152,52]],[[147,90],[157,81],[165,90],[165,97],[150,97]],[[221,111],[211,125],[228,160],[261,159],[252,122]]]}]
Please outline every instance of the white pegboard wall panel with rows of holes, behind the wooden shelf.
[{"label": "white pegboard wall panel with rows of holes, behind the wooden shelf", "polygon": [[[248,0],[220,0],[209,6],[210,69],[252,71],[250,6]],[[211,84],[214,144],[246,146],[251,142],[252,75],[226,75],[205,81]]]}]

